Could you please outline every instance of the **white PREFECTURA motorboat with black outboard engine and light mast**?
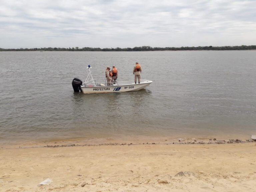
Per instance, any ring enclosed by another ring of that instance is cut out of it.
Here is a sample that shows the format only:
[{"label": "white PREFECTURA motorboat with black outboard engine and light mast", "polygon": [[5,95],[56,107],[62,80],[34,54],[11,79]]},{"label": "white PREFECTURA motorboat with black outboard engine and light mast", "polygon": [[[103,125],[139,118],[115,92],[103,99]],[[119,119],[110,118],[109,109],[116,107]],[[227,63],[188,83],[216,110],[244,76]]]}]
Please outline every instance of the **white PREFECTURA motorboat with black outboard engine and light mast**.
[{"label": "white PREFECTURA motorboat with black outboard engine and light mast", "polygon": [[74,78],[72,86],[75,92],[80,90],[83,93],[111,93],[111,92],[126,92],[126,91],[138,91],[150,85],[150,80],[140,80],[140,83],[135,84],[134,81],[114,81],[112,85],[107,86],[106,82],[96,82],[90,71],[91,67],[87,67],[89,73],[85,80],[82,82],[80,79]]}]

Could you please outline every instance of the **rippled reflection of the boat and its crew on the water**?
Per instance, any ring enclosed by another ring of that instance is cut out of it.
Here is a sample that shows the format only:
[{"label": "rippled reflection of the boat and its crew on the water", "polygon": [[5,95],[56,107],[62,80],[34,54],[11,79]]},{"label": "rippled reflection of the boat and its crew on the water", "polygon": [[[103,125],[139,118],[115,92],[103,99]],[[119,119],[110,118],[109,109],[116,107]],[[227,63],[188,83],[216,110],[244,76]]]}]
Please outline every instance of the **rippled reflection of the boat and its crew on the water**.
[{"label": "rippled reflection of the boat and its crew on the water", "polygon": [[[94,126],[95,122],[89,121],[102,118],[102,121],[111,121],[111,127],[120,126],[123,121],[122,117],[136,115],[136,118],[143,116],[141,106],[145,106],[145,102],[151,95],[148,89],[142,89],[132,92],[120,93],[99,93],[99,94],[83,94],[73,93],[72,105],[74,112],[79,112],[83,118],[81,121],[87,126]],[[76,113],[76,115],[78,115]],[[114,119],[114,120],[112,120]],[[119,120],[120,121],[117,121]],[[90,125],[90,122],[92,125]],[[108,127],[108,125],[105,125]]]}]

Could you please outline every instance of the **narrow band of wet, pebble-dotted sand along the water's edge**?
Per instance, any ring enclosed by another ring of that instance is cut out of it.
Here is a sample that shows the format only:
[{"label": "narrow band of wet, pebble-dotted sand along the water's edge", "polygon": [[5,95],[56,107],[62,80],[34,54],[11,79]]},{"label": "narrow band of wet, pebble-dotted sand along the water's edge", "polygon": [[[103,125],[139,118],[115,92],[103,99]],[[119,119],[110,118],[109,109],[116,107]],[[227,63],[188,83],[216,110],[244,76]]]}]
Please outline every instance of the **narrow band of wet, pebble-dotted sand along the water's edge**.
[{"label": "narrow band of wet, pebble-dotted sand along the water's edge", "polygon": [[[0,143],[1,148],[27,148],[27,147],[65,147],[65,146],[97,146],[97,145],[137,145],[137,144],[225,144],[253,142],[251,136],[241,135],[211,135],[211,136],[119,136],[119,137],[93,137],[73,139],[48,139],[48,140],[9,140]],[[239,139],[238,139],[239,138]]]}]

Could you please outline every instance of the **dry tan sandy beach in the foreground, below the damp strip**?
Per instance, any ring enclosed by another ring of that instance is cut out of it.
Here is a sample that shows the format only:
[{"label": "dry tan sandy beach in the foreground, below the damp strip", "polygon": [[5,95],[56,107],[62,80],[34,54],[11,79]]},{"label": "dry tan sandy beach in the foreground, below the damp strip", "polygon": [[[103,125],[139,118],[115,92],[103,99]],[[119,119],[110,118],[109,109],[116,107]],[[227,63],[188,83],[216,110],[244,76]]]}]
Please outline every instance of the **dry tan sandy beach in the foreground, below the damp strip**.
[{"label": "dry tan sandy beach in the foreground, below the damp strip", "polygon": [[[255,142],[0,149],[0,191],[255,191]],[[49,185],[39,185],[45,179]]]}]

